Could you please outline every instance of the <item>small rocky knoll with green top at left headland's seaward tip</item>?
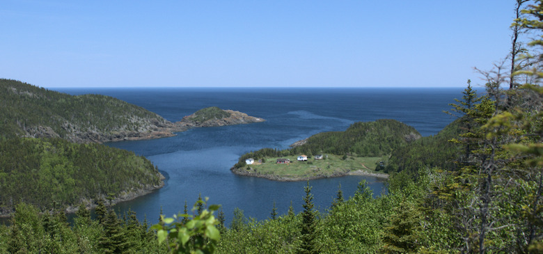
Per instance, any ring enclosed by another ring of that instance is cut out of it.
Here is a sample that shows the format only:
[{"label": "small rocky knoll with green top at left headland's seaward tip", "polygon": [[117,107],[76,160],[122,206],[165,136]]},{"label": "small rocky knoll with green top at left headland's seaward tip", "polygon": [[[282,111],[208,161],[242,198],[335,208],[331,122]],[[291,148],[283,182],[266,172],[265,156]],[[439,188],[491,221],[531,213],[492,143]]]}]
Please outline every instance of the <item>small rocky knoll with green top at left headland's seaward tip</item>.
[{"label": "small rocky knoll with green top at left headland's seaward tip", "polygon": [[228,114],[224,118],[211,118],[205,120],[198,120],[198,115],[196,113],[185,116],[179,122],[175,122],[175,125],[178,125],[181,128],[194,128],[194,127],[218,127],[226,125],[242,125],[251,122],[264,122],[262,118],[255,118],[253,116],[248,116],[246,113],[233,110],[222,110]]}]

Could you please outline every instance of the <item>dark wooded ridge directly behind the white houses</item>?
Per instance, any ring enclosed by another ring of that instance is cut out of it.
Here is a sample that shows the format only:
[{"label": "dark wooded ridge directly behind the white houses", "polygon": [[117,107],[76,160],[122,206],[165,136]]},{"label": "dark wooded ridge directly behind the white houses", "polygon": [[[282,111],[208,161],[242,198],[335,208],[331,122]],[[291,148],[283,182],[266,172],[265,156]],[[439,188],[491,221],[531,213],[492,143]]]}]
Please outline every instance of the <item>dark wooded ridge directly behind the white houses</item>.
[{"label": "dark wooded ridge directly behind the white houses", "polygon": [[262,148],[243,154],[235,168],[245,166],[245,159],[285,157],[294,154],[338,154],[359,157],[380,157],[420,138],[409,125],[397,120],[380,119],[374,122],[355,122],[345,132],[322,132],[310,136],[302,145],[286,150]]}]

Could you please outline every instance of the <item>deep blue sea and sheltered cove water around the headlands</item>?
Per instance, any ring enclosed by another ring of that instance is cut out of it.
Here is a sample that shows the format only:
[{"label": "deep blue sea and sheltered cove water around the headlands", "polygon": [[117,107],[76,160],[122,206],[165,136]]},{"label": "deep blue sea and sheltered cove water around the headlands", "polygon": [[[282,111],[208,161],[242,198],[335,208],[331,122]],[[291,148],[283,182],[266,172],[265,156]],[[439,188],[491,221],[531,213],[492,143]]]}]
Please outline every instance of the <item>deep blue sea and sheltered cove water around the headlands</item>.
[{"label": "deep blue sea and sheltered cove water around the headlands", "polygon": [[[162,207],[166,216],[191,207],[198,194],[221,204],[228,221],[239,207],[246,216],[266,219],[274,201],[280,214],[290,202],[302,210],[306,182],[273,182],[230,173],[239,156],[260,148],[288,145],[319,132],[343,131],[356,121],[380,118],[400,120],[423,136],[436,134],[453,120],[442,113],[448,103],[462,97],[462,88],[62,88],[73,95],[97,93],[142,106],[170,121],[198,109],[219,106],[265,118],[266,122],[228,127],[190,129],[171,138],[108,143],[150,159],[167,177],[164,188],[116,205],[134,210],[156,223]],[[310,181],[315,207],[325,212],[341,184],[352,196],[361,180],[368,181],[375,196],[384,181],[375,177],[348,176]]]}]

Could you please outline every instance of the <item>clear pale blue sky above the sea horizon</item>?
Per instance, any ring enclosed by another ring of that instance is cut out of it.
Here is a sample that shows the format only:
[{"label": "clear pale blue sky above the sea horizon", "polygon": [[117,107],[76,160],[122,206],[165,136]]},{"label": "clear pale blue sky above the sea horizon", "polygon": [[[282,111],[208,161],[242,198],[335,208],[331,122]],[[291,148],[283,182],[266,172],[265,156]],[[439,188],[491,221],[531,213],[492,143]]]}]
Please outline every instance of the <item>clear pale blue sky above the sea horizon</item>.
[{"label": "clear pale blue sky above the sea horizon", "polygon": [[514,0],[0,0],[0,78],[42,87],[463,87]]}]

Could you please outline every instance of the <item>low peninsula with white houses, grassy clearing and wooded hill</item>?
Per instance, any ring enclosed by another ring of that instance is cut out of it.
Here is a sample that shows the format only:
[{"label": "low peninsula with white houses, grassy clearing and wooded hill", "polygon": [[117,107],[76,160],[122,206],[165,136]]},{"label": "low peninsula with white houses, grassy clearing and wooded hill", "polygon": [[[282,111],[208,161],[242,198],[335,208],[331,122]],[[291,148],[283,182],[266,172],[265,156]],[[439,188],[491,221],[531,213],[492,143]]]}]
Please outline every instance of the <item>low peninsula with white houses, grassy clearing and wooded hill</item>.
[{"label": "low peninsula with white houses, grassy clearing and wooded hill", "polygon": [[391,152],[418,140],[420,134],[397,120],[355,122],[345,132],[323,132],[290,145],[242,155],[232,173],[276,181],[301,181],[344,175],[383,173]]}]

